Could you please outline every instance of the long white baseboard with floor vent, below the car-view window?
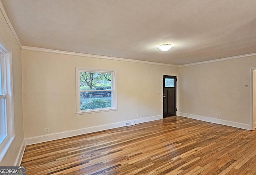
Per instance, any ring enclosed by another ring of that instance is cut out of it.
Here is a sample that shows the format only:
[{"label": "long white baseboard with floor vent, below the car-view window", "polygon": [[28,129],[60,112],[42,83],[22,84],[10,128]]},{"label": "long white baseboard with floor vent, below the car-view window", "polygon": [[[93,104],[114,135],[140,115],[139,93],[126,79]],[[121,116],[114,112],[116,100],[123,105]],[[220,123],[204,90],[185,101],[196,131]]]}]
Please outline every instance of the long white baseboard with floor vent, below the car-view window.
[{"label": "long white baseboard with floor vent, below the car-view window", "polygon": [[[139,123],[150,122],[150,121],[154,121],[154,120],[160,120],[162,118],[163,118],[163,116],[159,115],[159,116],[134,119],[134,120],[130,120],[130,121],[134,121],[135,124],[139,124]],[[72,136],[88,134],[88,133],[92,133],[92,132],[98,132],[98,131],[103,131],[103,130],[108,130],[108,129],[113,129],[113,128],[119,128],[119,127],[125,126],[126,122],[129,122],[129,121],[123,121],[123,122],[94,126],[94,127],[89,127],[89,128],[82,128],[82,129],[78,129],[78,130],[71,130],[71,131],[65,131],[65,132],[58,132],[58,133],[54,133],[54,134],[47,134],[47,135],[42,135],[42,136],[25,138],[25,144],[26,145],[38,144],[38,143],[42,143],[42,142],[48,142],[48,141],[52,141],[52,140],[58,140],[58,139],[62,139],[62,138],[68,138],[68,137],[72,137]]]}]

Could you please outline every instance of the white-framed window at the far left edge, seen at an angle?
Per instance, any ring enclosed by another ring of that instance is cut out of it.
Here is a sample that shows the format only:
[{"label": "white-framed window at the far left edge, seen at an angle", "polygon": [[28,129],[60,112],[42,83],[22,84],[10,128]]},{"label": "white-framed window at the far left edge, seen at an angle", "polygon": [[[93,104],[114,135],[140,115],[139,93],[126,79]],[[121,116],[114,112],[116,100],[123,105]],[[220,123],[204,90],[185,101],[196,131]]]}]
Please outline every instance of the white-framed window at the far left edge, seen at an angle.
[{"label": "white-framed window at the far left edge, seen at an angle", "polygon": [[[0,162],[7,152],[10,144],[12,143],[15,132],[14,132],[14,108],[13,108],[13,89],[12,89],[12,53],[6,49],[7,47],[3,44],[0,39],[0,54],[1,54],[1,87],[2,95],[1,98],[5,98],[5,106],[3,109],[5,112],[5,122],[1,123],[5,125],[5,135],[0,140]],[[2,110],[2,109],[1,109]],[[2,127],[2,126],[0,126]]]}]

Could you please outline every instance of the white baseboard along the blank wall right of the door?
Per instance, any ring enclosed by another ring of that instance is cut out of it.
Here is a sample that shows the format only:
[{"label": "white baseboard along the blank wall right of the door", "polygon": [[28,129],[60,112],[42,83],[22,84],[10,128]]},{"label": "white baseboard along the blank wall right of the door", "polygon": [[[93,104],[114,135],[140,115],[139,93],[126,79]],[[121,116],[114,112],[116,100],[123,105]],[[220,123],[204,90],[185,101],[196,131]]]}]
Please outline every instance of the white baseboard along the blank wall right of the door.
[{"label": "white baseboard along the blank wall right of the door", "polygon": [[228,121],[228,120],[221,120],[221,119],[218,119],[218,118],[210,118],[210,117],[198,116],[198,115],[187,114],[187,113],[183,113],[183,112],[179,112],[178,115],[182,116],[182,117],[187,117],[187,118],[192,118],[192,119],[196,119],[196,120],[201,120],[201,121],[204,121],[204,122],[222,124],[222,125],[226,125],[226,126],[232,126],[232,127],[236,127],[236,128],[250,130],[250,125],[249,124],[232,122],[232,121]]}]

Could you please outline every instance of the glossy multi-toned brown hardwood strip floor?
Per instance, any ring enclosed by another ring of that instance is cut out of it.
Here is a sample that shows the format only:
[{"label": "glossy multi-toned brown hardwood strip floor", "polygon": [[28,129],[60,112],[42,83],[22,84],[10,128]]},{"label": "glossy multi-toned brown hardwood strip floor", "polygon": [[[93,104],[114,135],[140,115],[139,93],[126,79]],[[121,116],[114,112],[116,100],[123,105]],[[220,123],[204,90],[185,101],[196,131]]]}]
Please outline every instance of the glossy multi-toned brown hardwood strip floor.
[{"label": "glossy multi-toned brown hardwood strip floor", "polygon": [[256,131],[184,117],[26,146],[27,175],[256,175]]}]

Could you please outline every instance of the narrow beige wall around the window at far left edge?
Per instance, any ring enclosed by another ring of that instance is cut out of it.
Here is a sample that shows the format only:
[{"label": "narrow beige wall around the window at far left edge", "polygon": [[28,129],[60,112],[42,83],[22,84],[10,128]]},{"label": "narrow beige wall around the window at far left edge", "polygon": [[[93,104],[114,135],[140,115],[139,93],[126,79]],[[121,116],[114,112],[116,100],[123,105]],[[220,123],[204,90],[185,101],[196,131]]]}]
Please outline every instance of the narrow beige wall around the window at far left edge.
[{"label": "narrow beige wall around the window at far left edge", "polygon": [[14,126],[15,138],[2,159],[0,166],[13,166],[18,155],[20,146],[24,140],[23,119],[22,119],[22,63],[21,49],[10,30],[6,20],[0,11],[0,38],[12,52],[12,76],[14,96]]}]

